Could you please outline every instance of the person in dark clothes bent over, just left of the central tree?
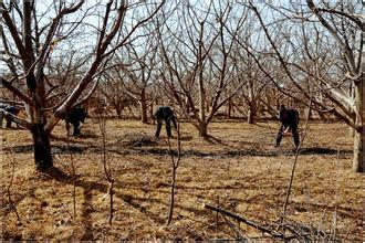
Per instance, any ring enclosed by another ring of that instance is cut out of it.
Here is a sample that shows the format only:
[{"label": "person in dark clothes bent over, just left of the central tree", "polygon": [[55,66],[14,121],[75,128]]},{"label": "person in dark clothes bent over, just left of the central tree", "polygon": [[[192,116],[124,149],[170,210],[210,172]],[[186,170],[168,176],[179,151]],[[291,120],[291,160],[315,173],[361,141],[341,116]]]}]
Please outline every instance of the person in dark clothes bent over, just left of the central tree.
[{"label": "person in dark clothes bent over, just left of the central tree", "polygon": [[171,137],[171,124],[174,124],[175,129],[177,129],[177,124],[176,124],[176,117],[174,115],[174,112],[170,107],[168,106],[161,106],[158,107],[154,118],[157,120],[157,127],[156,127],[156,138],[159,138],[159,133],[163,127],[163,122],[166,124],[166,133],[167,137]]}]

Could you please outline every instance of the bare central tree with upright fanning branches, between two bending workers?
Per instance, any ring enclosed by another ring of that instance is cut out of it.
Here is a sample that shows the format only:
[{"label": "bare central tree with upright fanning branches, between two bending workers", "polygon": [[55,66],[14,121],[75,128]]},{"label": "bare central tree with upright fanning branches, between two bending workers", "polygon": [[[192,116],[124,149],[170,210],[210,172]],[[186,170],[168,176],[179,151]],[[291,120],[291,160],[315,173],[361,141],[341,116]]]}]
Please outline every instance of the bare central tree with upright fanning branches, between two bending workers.
[{"label": "bare central tree with upright fanning branches, between two bending workers", "polygon": [[[233,40],[225,30],[236,14],[234,8],[234,3],[182,2],[170,17],[181,17],[180,21],[169,25],[171,20],[167,20],[165,29],[159,29],[161,80],[181,112],[192,112],[191,123],[201,137],[208,136],[215,114],[239,89],[229,89],[237,74],[230,65]],[[230,25],[236,33],[236,25]],[[226,97],[225,91],[229,93]]]}]

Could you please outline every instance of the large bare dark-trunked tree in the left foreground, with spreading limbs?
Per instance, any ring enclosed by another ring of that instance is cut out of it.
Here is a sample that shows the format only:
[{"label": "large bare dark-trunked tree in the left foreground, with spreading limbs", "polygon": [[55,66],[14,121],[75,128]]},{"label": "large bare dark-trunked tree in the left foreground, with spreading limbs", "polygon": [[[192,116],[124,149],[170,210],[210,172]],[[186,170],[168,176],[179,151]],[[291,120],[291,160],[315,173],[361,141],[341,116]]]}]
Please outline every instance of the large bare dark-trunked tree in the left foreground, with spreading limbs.
[{"label": "large bare dark-trunked tree in the left foreground, with spreading limbs", "polygon": [[[164,1],[159,4],[129,4],[126,0],[119,2],[109,0],[105,6],[90,4],[84,0],[70,4],[64,1],[50,2],[48,9],[41,8],[38,2],[30,0],[23,0],[19,6],[15,1],[0,4],[2,22],[6,27],[4,40],[9,45],[14,46],[9,49],[12,50],[9,55],[19,59],[22,63],[17,75],[13,74],[11,81],[1,77],[1,84],[27,104],[28,119],[13,118],[32,134],[35,166],[42,171],[53,166],[50,133],[54,126],[62,117],[65,117],[71,107],[87,98],[94,89],[90,86],[95,77],[103,72],[109,57],[117,49],[131,41],[131,36],[139,27],[158,12]],[[95,18],[88,22],[85,20],[90,9],[100,13],[96,21]],[[139,14],[133,14],[137,9],[142,10]],[[42,18],[42,21],[39,21],[38,17],[42,12],[49,18]],[[69,18],[73,18],[72,21]],[[95,27],[93,23],[97,21],[100,21],[100,25]],[[123,29],[124,24],[129,28]],[[73,88],[67,92],[64,99],[56,106],[49,107],[46,103],[49,87],[44,75],[45,64],[56,53],[53,50],[56,42],[58,45],[61,45],[62,41],[69,39],[76,28],[86,28],[86,25],[97,30],[97,35],[91,34],[87,38],[88,40],[92,39],[91,42],[94,44],[93,49],[90,50],[93,52],[92,59],[84,64],[86,71],[75,82]],[[11,63],[9,65],[11,70]],[[17,87],[13,85],[14,82],[24,85]],[[96,86],[96,83],[94,85]],[[85,92],[87,89],[90,92]],[[52,108],[50,113],[45,113],[49,108]],[[11,116],[11,114],[9,115]]]}]

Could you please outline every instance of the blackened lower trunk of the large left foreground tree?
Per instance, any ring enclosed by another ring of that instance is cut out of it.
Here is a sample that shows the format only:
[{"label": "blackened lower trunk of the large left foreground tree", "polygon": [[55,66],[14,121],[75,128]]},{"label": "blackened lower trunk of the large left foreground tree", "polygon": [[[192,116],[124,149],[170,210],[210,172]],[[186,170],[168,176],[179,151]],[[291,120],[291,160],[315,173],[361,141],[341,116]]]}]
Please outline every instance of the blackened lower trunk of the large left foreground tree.
[{"label": "blackened lower trunk of the large left foreground tree", "polygon": [[36,170],[45,171],[53,167],[49,134],[43,124],[34,124],[32,129],[34,146],[34,162]]}]

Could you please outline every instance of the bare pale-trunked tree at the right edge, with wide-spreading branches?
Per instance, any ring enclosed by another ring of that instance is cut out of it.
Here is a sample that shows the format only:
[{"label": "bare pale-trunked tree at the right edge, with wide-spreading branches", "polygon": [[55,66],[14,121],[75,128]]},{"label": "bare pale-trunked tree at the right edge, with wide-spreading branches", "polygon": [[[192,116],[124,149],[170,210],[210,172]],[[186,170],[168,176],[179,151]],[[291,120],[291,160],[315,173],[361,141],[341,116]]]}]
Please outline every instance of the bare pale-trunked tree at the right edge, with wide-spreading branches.
[{"label": "bare pale-trunked tree at the right edge, with wide-spreading branches", "polygon": [[[361,3],[317,7],[307,0],[306,6],[291,6],[292,10],[280,12],[286,25],[278,20],[270,25],[258,8],[251,8],[295,92],[312,101],[313,108],[330,112],[355,130],[353,171],[364,172]],[[279,30],[286,49],[278,44],[272,28]]]}]

